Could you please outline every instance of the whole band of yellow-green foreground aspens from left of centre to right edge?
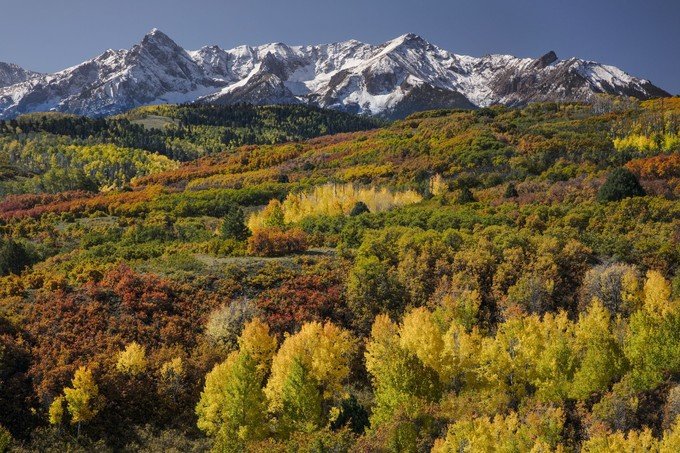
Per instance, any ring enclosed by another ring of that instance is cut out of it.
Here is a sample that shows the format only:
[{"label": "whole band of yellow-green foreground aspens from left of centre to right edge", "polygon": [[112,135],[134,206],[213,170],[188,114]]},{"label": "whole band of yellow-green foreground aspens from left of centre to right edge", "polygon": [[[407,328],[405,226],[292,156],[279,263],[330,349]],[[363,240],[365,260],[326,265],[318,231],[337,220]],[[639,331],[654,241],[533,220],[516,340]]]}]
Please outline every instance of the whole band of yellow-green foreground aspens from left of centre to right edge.
[{"label": "whole band of yellow-green foreground aspens from left of centre to right edge", "polygon": [[[661,439],[607,425],[617,415],[613,394],[655,388],[664,373],[680,370],[680,301],[670,294],[669,283],[650,272],[627,323],[594,299],[577,320],[564,312],[517,314],[494,334],[464,325],[455,311],[415,308],[400,323],[379,315],[365,346],[371,430],[434,405],[450,420],[437,452],[562,451],[564,402],[602,394],[584,451],[677,451],[680,420]],[[311,433],[337,418],[358,351],[348,331],[308,323],[277,350],[256,318],[238,345],[207,375],[196,408],[218,449]]]}]

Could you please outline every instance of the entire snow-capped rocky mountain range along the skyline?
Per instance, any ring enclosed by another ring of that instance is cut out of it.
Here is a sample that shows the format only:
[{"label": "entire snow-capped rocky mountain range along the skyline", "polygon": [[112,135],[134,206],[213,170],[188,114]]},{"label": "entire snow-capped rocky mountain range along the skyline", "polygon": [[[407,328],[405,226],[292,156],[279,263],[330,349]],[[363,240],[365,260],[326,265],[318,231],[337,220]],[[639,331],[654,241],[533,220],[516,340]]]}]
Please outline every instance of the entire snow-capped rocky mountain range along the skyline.
[{"label": "entire snow-capped rocky mountain range along the skyline", "polygon": [[402,117],[432,108],[588,101],[596,93],[669,95],[593,61],[559,60],[554,52],[538,59],[469,57],[414,34],[381,45],[350,40],[186,51],[154,29],[130,50],[108,50],[54,74],[0,63],[0,118],[46,110],[97,116],[194,101],[304,103]]}]

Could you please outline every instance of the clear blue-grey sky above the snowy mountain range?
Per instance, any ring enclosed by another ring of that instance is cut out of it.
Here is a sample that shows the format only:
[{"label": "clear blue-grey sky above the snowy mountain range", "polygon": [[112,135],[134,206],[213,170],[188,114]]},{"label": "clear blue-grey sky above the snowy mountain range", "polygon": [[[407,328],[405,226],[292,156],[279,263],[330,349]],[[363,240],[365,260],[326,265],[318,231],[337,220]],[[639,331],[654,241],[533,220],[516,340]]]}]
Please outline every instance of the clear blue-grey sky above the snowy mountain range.
[{"label": "clear blue-grey sky above the snowy mountain range", "polygon": [[154,27],[187,49],[413,32],[467,55],[554,50],[680,94],[680,0],[0,0],[0,61],[55,71]]}]

